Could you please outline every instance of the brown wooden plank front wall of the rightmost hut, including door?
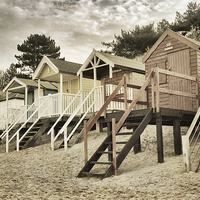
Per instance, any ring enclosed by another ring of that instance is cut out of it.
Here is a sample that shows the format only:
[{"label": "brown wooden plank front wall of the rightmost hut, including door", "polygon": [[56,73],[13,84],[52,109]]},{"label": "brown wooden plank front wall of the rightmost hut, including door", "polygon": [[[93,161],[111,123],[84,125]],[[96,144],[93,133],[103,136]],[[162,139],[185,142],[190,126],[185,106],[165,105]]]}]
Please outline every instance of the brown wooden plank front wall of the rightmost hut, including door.
[{"label": "brown wooden plank front wall of the rightmost hut, including door", "polygon": [[[198,61],[200,63],[200,60]],[[190,76],[197,76],[197,52],[179,40],[167,36],[145,63],[146,77],[152,67],[159,67]],[[194,82],[160,75],[160,88],[193,93],[197,91]],[[148,87],[148,107],[152,106],[151,86]],[[189,97],[160,93],[160,107],[182,110],[197,110],[198,101]]]}]

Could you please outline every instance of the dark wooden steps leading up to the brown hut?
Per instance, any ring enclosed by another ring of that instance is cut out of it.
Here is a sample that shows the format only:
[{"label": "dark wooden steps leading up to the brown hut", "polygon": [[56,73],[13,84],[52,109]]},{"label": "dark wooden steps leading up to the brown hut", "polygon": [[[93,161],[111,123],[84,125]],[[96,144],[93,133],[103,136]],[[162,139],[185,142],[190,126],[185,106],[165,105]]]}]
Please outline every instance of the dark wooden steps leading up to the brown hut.
[{"label": "dark wooden steps leading up to the brown hut", "polygon": [[[117,145],[117,157],[116,157],[116,163],[117,163],[117,169],[122,164],[123,160],[126,158],[128,153],[130,152],[131,148],[136,144],[137,140],[139,139],[140,135],[148,125],[148,123],[151,121],[153,117],[153,109],[149,109],[143,120],[139,123],[137,129],[134,132],[117,132],[116,134],[116,145]],[[130,127],[131,123],[124,123],[123,126]],[[127,137],[129,136],[129,139]],[[113,161],[112,161],[112,155],[113,151],[110,148],[113,145],[112,142],[112,133],[110,133],[105,140],[102,142],[102,144],[98,147],[98,149],[95,151],[95,153],[92,155],[92,157],[88,160],[88,162],[85,164],[83,169],[78,174],[78,177],[84,177],[84,176],[101,176],[102,178],[109,177],[114,174],[113,172]],[[121,146],[121,148],[120,148]],[[110,155],[103,158],[103,155]],[[109,159],[110,158],[110,159]],[[104,160],[105,159],[105,160]],[[100,165],[100,168],[105,169],[105,173],[90,173],[92,171],[92,168],[94,168],[96,165]],[[107,167],[105,167],[107,166]]]}]

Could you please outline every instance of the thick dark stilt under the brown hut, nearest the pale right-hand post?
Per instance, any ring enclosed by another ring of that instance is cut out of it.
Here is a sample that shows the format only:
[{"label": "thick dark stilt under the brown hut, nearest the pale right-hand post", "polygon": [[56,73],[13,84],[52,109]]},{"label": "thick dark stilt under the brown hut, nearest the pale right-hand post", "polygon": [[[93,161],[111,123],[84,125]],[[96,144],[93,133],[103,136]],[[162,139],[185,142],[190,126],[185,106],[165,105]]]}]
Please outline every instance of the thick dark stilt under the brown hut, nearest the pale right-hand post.
[{"label": "thick dark stilt under the brown hut, nearest the pale right-hand post", "polygon": [[179,118],[176,118],[173,120],[173,134],[174,134],[175,155],[181,155],[182,154],[182,144],[181,144],[181,126],[180,126]]}]

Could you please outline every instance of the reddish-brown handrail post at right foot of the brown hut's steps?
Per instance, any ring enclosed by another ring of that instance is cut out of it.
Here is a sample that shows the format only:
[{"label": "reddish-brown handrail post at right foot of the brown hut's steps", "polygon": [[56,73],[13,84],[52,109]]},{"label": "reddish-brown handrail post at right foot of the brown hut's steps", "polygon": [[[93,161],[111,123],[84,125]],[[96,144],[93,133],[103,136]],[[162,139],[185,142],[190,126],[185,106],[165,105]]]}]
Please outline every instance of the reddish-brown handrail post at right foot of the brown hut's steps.
[{"label": "reddish-brown handrail post at right foot of the brown hut's steps", "polygon": [[115,118],[112,118],[112,151],[113,151],[113,174],[117,175],[117,160],[116,160],[116,126]]}]

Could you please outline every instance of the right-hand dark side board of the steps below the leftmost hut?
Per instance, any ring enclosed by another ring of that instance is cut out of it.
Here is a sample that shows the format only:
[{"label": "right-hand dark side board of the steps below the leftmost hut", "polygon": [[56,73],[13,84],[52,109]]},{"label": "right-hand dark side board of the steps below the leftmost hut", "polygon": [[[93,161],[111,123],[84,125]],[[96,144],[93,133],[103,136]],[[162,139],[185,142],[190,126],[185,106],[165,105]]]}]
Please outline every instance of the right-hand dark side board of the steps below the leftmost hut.
[{"label": "right-hand dark side board of the steps below the leftmost hut", "polygon": [[[37,124],[37,123],[36,123]],[[50,120],[45,120],[38,132],[25,143],[21,149],[25,149],[33,146],[33,144],[38,140],[38,138],[47,130],[50,125]],[[28,134],[28,133],[27,133]]]}]

